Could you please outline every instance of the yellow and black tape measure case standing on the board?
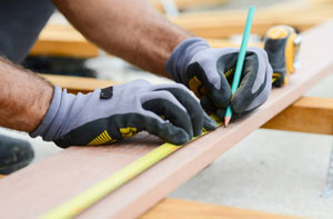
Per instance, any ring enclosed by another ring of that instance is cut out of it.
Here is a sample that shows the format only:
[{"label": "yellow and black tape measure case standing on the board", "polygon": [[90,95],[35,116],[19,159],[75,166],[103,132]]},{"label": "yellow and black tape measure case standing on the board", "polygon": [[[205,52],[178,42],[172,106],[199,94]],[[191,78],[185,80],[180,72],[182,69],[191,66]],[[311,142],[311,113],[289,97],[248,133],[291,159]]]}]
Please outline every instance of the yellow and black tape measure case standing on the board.
[{"label": "yellow and black tape measure case standing on the board", "polygon": [[275,26],[268,30],[264,50],[273,68],[273,87],[287,84],[289,77],[299,66],[297,54],[302,38],[294,28]]}]

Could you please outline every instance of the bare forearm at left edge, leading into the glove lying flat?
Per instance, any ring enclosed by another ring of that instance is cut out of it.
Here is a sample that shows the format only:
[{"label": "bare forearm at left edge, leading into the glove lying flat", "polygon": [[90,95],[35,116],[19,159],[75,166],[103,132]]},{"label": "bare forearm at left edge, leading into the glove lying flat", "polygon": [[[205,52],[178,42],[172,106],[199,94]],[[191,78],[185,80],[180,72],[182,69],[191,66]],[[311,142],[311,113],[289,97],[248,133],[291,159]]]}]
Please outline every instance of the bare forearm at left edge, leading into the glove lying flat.
[{"label": "bare forearm at left edge, leading into the glove lying flat", "polygon": [[0,57],[0,126],[33,131],[44,117],[52,86]]}]

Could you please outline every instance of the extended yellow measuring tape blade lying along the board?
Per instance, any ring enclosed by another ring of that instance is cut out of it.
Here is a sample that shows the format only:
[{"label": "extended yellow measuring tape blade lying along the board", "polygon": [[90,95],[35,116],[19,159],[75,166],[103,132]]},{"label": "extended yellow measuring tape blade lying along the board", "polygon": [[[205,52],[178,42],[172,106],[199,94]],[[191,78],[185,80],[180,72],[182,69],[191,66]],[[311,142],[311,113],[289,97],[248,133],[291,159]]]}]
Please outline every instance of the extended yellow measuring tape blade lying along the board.
[{"label": "extended yellow measuring tape blade lying along the board", "polygon": [[[219,127],[222,125],[220,119],[215,116],[211,116],[214,119]],[[208,133],[203,131],[201,136],[194,137],[191,141],[204,136]],[[185,146],[185,145],[183,145]],[[88,188],[83,192],[74,196],[70,200],[61,203],[57,208],[50,210],[49,212],[41,216],[42,219],[67,219],[73,218],[77,215],[81,213],[122,185],[127,183],[144,170],[149,169],[157,162],[167,158],[169,155],[173,153],[183,146],[176,146],[172,143],[163,143],[157,149],[150,151],[145,156],[139,158],[138,160],[125,166],[123,169],[114,172],[104,180],[95,183],[94,186]]]}]

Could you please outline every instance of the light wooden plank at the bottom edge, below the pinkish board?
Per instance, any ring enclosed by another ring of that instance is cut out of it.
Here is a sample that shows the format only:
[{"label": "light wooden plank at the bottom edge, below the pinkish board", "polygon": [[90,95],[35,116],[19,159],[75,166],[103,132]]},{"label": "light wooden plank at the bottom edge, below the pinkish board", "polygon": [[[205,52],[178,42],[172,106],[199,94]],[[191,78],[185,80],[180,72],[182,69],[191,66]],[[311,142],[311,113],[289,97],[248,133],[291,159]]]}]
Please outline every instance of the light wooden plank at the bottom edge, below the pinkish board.
[{"label": "light wooden plank at the bottom edge, below the pinkish board", "polygon": [[296,217],[266,213],[226,206],[201,203],[180,199],[163,199],[145,212],[141,219],[292,219]]}]

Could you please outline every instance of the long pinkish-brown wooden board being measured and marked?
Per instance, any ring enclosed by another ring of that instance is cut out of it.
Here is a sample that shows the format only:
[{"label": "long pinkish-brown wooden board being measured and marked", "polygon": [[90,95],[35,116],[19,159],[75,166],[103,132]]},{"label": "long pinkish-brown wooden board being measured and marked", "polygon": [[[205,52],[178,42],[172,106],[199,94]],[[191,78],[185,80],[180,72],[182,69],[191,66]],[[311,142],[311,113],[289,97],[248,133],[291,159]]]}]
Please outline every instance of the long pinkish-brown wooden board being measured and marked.
[{"label": "long pinkish-brown wooden board being measured and marked", "polygon": [[[250,116],[221,127],[141,173],[79,218],[135,218],[241,141],[333,70],[333,22],[303,34],[301,68]],[[36,218],[161,143],[140,133],[107,147],[71,147],[0,180],[0,218]],[[20,209],[20,210],[18,210]]]}]

